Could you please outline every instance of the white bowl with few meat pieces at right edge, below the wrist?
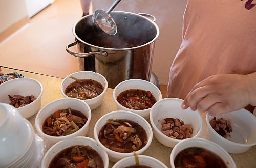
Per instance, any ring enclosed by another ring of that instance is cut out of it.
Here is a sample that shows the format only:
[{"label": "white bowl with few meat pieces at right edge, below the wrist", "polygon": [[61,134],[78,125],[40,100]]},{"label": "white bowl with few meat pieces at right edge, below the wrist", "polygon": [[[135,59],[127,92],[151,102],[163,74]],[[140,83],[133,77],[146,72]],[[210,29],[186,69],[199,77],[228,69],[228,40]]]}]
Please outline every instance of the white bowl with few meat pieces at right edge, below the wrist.
[{"label": "white bowl with few meat pieces at right edge, below the wrist", "polygon": [[206,115],[210,140],[229,153],[243,153],[256,145],[256,117],[246,109],[221,116]]}]

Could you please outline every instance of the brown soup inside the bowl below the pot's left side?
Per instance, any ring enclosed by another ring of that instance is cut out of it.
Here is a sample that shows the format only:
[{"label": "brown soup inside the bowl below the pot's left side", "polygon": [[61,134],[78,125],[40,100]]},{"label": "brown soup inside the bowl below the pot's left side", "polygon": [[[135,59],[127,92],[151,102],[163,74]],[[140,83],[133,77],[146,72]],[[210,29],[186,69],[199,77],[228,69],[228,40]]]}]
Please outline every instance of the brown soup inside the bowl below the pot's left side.
[{"label": "brown soup inside the bowl below the pot's left side", "polygon": [[73,97],[81,100],[92,99],[100,95],[104,87],[96,80],[79,79],[72,82],[65,90],[68,97]]}]

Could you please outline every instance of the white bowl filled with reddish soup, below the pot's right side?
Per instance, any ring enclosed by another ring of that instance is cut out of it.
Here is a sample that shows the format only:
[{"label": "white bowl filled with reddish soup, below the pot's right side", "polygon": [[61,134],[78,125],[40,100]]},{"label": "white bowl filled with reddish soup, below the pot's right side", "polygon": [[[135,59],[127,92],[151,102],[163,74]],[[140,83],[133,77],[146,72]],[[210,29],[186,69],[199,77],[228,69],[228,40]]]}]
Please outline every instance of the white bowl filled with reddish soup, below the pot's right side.
[{"label": "white bowl filled with reddish soup, below the pot's right side", "polygon": [[118,110],[131,111],[148,119],[151,107],[162,99],[162,93],[149,81],[129,79],[114,88],[113,99]]}]

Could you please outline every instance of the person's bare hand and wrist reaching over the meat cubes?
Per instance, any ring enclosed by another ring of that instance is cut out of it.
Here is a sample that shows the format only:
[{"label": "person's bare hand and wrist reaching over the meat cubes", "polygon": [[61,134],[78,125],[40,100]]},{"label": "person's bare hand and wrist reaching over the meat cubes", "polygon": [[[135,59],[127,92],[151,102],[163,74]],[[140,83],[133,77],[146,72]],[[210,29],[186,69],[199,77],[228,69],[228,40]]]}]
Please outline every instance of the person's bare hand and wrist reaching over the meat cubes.
[{"label": "person's bare hand and wrist reaching over the meat cubes", "polygon": [[256,106],[256,72],[248,75],[218,74],[197,83],[182,103],[182,108],[207,111],[218,116]]}]

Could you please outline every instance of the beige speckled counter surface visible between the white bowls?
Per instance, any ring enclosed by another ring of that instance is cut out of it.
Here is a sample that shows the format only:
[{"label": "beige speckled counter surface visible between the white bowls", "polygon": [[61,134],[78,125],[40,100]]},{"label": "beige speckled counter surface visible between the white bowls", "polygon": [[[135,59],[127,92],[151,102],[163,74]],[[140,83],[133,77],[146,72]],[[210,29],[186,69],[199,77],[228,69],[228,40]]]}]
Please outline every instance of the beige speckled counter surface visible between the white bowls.
[{"label": "beige speckled counter surface visible between the white bowls", "polygon": [[[50,103],[53,100],[63,98],[63,96],[60,93],[60,83],[62,81],[61,78],[41,75],[41,74],[35,74],[25,71],[18,71],[14,69],[9,68],[2,68],[2,71],[4,74],[11,73],[11,72],[17,72],[20,74],[23,74],[24,77],[29,77],[38,80],[43,88],[44,92],[42,94],[42,104],[41,107],[44,107],[46,104]],[[90,122],[90,128],[88,131],[88,137],[93,138],[93,128],[96,123],[96,121],[104,114],[109,113],[110,111],[117,110],[117,107],[114,103],[114,100],[112,98],[112,92],[113,89],[108,88],[108,90],[105,93],[103,103],[96,109],[92,110],[92,119]],[[32,123],[34,126],[34,120],[35,116],[30,117],[28,120]],[[206,129],[206,123],[205,123],[205,114],[202,114],[203,118],[203,132],[200,137],[209,139]],[[256,129],[256,128],[255,128]],[[34,127],[34,130],[36,132],[36,129]],[[173,148],[166,147],[162,144],[160,144],[157,139],[153,136],[153,141],[150,147],[144,152],[144,155],[155,157],[156,159],[162,161],[167,167],[170,167],[170,153],[172,152]],[[236,162],[237,167],[256,167],[256,146],[251,147],[247,152],[242,154],[230,154],[233,160]],[[114,165],[113,162],[110,162],[110,166],[112,167]]]}]

